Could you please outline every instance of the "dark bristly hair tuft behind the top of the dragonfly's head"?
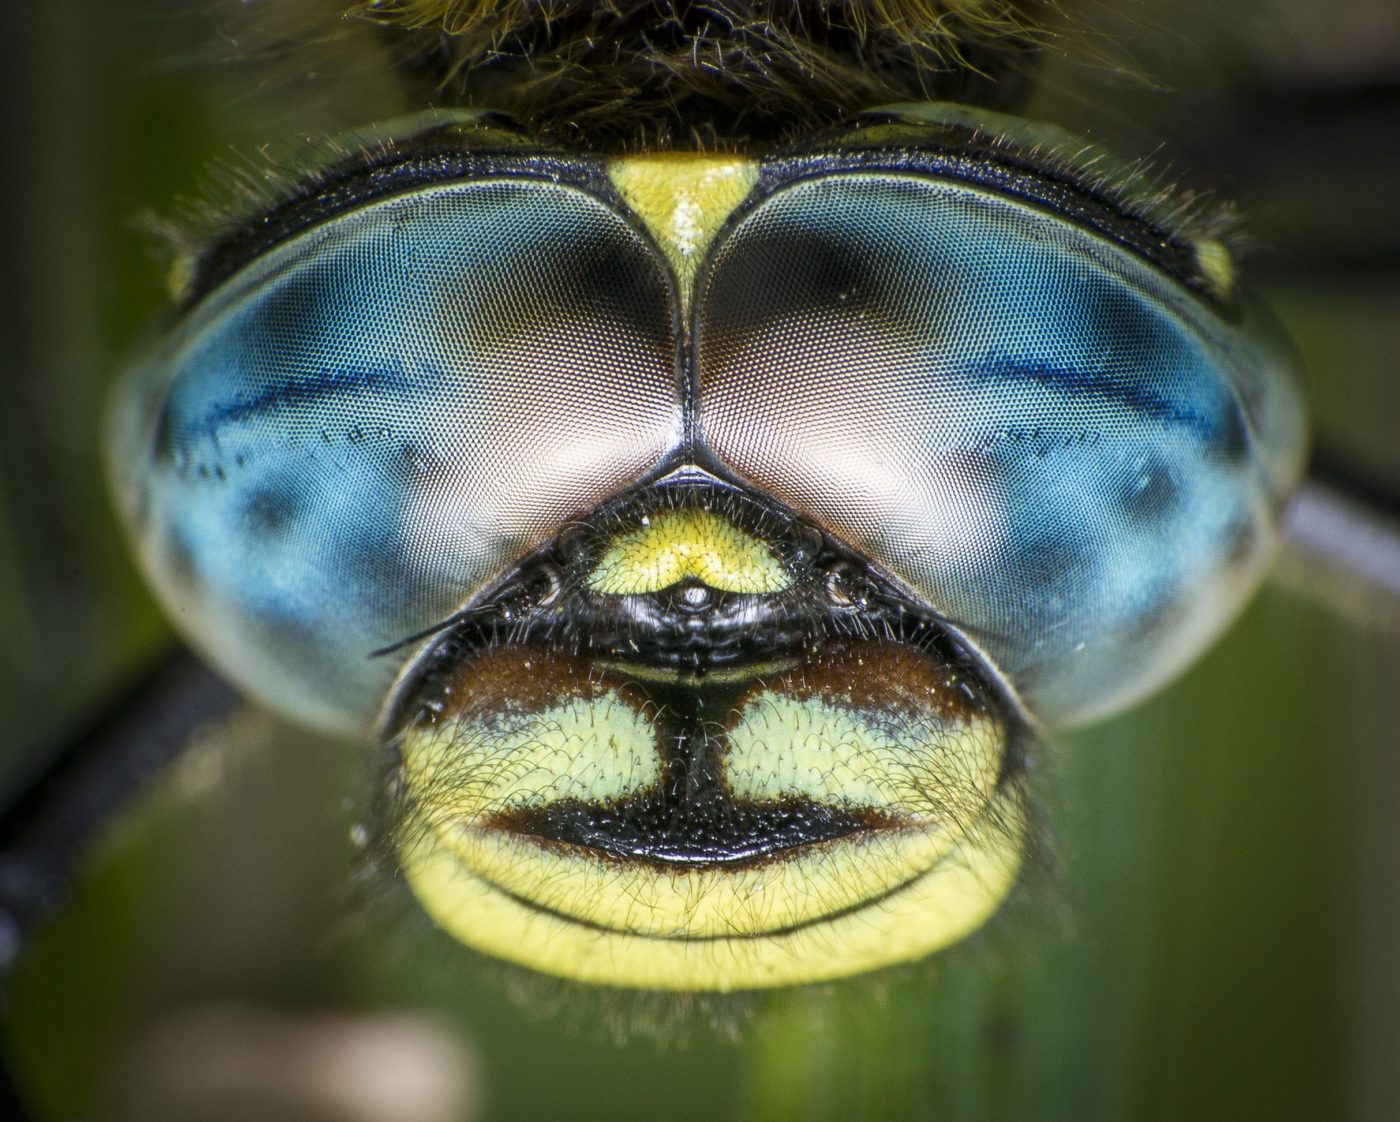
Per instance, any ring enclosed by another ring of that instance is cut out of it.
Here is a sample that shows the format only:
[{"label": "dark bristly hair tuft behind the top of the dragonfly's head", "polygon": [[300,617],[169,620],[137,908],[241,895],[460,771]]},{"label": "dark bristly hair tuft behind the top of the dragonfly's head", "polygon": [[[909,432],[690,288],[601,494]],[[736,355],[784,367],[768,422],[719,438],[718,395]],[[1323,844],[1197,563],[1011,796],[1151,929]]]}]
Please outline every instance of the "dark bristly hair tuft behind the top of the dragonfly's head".
[{"label": "dark bristly hair tuft behind the top of the dragonfly's head", "polygon": [[[784,140],[899,101],[1011,108],[1053,0],[360,0],[431,102],[587,147]],[[697,125],[700,122],[700,125]]]}]

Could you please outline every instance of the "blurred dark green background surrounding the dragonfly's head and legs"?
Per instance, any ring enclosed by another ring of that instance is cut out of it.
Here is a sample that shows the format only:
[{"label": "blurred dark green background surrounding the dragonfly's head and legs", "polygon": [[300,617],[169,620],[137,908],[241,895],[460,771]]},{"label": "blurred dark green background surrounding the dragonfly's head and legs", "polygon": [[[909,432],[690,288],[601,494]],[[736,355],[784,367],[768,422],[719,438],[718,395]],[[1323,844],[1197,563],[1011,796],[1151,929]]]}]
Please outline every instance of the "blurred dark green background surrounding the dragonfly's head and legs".
[{"label": "blurred dark green background surrounding the dragonfly's head and legs", "polygon": [[[1400,493],[1400,6],[1085,18],[1029,115],[1240,203],[1320,440]],[[286,162],[406,108],[381,41],[330,28],[308,49],[272,3],[0,14],[6,769],[168,642],[98,447],[118,357],[164,301],[143,216],[266,144]],[[421,1062],[456,1088],[423,1118],[1400,1116],[1400,643],[1394,612],[1326,605],[1267,588],[1161,698],[1049,745],[1046,860],[986,931],[874,981],[689,1011],[444,946],[361,875],[367,749],[241,714],[94,854],[13,979],[8,1048],[56,1118],[419,1118],[421,1088],[363,1114],[294,1090],[356,1027],[377,1044],[354,1077]],[[237,1067],[238,1042],[252,1076],[186,1086]],[[283,1067],[251,1090],[269,1053]]]}]

